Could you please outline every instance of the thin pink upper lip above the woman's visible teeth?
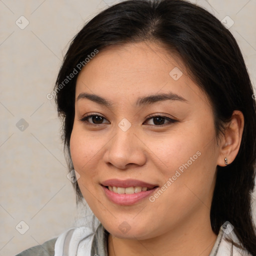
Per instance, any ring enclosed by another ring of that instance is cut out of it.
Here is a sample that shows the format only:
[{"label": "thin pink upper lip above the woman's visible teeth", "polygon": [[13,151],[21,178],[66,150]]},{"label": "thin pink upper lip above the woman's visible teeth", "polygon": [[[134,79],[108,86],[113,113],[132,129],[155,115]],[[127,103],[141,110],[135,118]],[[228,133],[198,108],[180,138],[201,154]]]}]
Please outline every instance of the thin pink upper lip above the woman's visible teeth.
[{"label": "thin pink upper lip above the woman's visible teeth", "polygon": [[116,186],[116,187],[130,187],[130,186],[141,186],[141,187],[148,187],[148,188],[153,188],[155,186],[158,186],[156,184],[150,184],[138,179],[116,179],[116,178],[112,178],[112,179],[107,179],[103,182],[101,182],[101,184],[103,186]]}]

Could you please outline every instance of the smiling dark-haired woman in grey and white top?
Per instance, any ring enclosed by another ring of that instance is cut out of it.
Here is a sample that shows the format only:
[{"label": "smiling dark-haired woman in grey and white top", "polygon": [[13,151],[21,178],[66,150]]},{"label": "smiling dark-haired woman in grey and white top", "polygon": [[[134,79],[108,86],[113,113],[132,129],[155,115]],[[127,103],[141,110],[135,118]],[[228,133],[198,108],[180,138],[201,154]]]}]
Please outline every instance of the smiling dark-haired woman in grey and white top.
[{"label": "smiling dark-haired woman in grey and white top", "polygon": [[256,255],[256,107],[217,18],[183,0],[113,5],[74,37],[54,92],[77,202],[100,224],[19,256]]}]

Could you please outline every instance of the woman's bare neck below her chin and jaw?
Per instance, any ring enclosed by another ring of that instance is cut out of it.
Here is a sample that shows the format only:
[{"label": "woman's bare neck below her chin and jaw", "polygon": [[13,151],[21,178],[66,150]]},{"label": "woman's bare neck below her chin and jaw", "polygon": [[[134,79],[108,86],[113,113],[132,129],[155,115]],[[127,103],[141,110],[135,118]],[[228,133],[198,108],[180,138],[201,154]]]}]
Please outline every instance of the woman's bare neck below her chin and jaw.
[{"label": "woman's bare neck below her chin and jaw", "polygon": [[[205,217],[206,216],[206,217]],[[217,235],[205,211],[157,237],[144,240],[123,239],[109,234],[108,256],[208,256]]]}]

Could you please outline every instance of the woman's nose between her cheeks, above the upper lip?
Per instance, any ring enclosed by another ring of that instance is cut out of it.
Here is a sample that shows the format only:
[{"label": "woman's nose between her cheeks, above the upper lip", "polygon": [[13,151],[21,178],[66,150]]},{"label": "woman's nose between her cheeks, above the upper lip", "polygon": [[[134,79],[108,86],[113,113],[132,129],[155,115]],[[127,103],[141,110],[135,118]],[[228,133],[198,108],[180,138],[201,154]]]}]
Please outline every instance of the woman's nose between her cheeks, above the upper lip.
[{"label": "woman's nose between her cheeks, above the upper lip", "polygon": [[146,162],[145,144],[132,126],[126,131],[116,128],[115,135],[106,144],[103,161],[119,169],[141,166]]}]

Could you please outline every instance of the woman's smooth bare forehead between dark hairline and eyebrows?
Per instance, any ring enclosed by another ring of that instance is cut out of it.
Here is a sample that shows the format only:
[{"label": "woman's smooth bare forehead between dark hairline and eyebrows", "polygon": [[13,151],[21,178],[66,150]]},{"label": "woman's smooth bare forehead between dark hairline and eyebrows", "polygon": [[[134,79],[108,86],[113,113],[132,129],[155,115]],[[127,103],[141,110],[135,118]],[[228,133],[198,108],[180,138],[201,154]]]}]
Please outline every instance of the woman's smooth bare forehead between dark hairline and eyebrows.
[{"label": "woman's smooth bare forehead between dark hairline and eyebrows", "polygon": [[89,92],[114,100],[170,91],[190,100],[199,97],[205,101],[176,54],[160,44],[139,42],[99,50],[80,71],[75,96]]}]

